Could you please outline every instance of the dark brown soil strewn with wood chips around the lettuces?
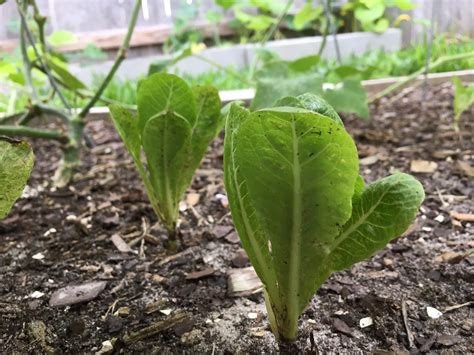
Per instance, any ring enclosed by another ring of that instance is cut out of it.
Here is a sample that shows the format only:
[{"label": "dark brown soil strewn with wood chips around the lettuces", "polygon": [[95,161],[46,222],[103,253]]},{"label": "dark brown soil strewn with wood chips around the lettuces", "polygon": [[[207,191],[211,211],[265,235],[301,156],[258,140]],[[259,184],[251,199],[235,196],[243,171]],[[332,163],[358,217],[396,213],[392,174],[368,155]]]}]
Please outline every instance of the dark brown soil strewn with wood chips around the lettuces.
[{"label": "dark brown soil strewn with wood chips around the lettuces", "polygon": [[[474,116],[464,114],[456,133],[452,102],[449,84],[427,93],[408,89],[372,106],[370,121],[345,117],[367,182],[394,170],[410,172],[413,160],[435,162],[437,168],[413,173],[426,200],[409,231],[318,290],[300,318],[291,351],[474,349],[469,255],[474,224],[450,216],[474,212],[468,168],[474,165]],[[105,352],[107,341],[116,353],[277,351],[262,294],[229,295],[229,272],[250,265],[226,205],[222,137],[187,193],[182,249],[170,255],[111,122],[91,120],[87,132],[95,147],[84,154],[80,173],[65,189],[50,183],[58,146],[34,142],[37,160],[29,187],[0,222],[1,352]],[[132,252],[120,252],[113,235],[131,243]],[[95,299],[49,305],[55,290],[97,280],[107,285]],[[427,307],[443,315],[431,318]],[[360,320],[368,317],[373,324],[361,328]]]}]

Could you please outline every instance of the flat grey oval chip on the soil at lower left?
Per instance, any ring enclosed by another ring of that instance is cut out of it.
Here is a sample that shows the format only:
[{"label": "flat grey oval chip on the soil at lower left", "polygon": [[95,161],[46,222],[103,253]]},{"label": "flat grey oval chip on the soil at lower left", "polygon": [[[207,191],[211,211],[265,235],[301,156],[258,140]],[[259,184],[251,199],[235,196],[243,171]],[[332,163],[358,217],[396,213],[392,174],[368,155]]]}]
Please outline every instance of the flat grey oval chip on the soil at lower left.
[{"label": "flat grey oval chip on the soil at lower left", "polygon": [[66,286],[55,291],[49,300],[51,307],[70,306],[96,298],[107,285],[106,281],[89,282],[77,286]]}]

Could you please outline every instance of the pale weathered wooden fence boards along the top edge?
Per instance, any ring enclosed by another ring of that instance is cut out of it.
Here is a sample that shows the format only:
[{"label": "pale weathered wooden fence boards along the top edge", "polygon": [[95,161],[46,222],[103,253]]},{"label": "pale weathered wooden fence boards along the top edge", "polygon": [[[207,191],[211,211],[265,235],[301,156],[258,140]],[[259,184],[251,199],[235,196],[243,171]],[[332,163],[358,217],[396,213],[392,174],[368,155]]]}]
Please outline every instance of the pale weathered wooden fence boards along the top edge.
[{"label": "pale weathered wooden fence boards along the top edge", "polygon": [[[320,1],[320,0],[315,0]],[[337,0],[339,3],[347,0]],[[434,18],[437,32],[474,35],[474,0],[413,0],[417,9],[412,11],[414,19]],[[296,0],[297,8],[305,0]],[[134,0],[37,0],[41,11],[48,16],[49,31],[58,29],[74,33],[96,32],[110,35],[123,32],[131,13]],[[186,5],[197,8],[195,21],[205,21],[207,10],[217,9],[213,0],[143,0],[138,29],[169,29],[173,18]],[[198,6],[197,6],[198,5]],[[181,9],[181,10],[180,10]],[[0,6],[0,42],[16,39],[18,15],[15,1],[8,0]],[[423,32],[420,25],[404,25],[405,43],[419,38]],[[0,49],[3,49],[0,46]]]}]

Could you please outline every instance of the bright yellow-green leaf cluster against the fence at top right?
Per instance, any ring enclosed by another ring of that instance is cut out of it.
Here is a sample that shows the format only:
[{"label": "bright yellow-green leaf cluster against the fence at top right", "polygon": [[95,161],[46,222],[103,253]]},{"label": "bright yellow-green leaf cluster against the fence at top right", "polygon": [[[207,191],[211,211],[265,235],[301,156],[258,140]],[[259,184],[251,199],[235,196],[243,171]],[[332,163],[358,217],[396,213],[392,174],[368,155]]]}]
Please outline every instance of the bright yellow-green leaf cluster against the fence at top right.
[{"label": "bright yellow-green leaf cluster against the fence at top right", "polygon": [[[411,0],[352,0],[344,4],[342,14],[352,13],[354,22],[353,31],[357,31],[359,26],[364,31],[385,32],[390,26],[390,19],[387,10],[398,8],[401,11],[409,11],[416,7]],[[406,17],[406,15],[400,15]],[[400,22],[401,17],[393,21],[394,24]]]}]

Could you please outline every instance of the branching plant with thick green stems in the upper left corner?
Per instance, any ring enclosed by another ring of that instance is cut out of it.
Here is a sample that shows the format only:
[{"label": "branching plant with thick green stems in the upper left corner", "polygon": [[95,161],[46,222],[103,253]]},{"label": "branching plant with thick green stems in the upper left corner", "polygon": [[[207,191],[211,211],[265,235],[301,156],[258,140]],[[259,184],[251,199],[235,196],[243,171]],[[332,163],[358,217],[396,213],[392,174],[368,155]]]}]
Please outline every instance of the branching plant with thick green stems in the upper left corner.
[{"label": "branching plant with thick green stems in the upper left corner", "polygon": [[[65,186],[72,179],[80,164],[80,152],[83,146],[85,117],[90,109],[101,100],[102,94],[115,72],[125,59],[133,29],[137,22],[141,1],[136,0],[128,30],[120,47],[115,62],[107,76],[96,91],[90,92],[78,78],[67,69],[64,57],[54,46],[69,43],[74,35],[58,31],[46,36],[46,17],[42,16],[34,0],[17,0],[20,15],[20,51],[21,65],[9,62],[0,63],[0,78],[8,81],[13,94],[10,97],[21,97],[24,106],[20,112],[15,101],[10,102],[0,118],[0,134],[7,136],[24,136],[32,138],[53,139],[62,144],[63,157],[54,177],[56,186]],[[20,88],[22,94],[18,94]],[[76,112],[68,96],[85,98],[85,104]],[[50,105],[57,99],[58,106]],[[26,101],[26,102],[25,102]],[[65,126],[63,130],[40,129],[28,127],[39,117],[53,117]],[[12,123],[13,124],[10,124]],[[90,142],[90,139],[88,140]]]}]

